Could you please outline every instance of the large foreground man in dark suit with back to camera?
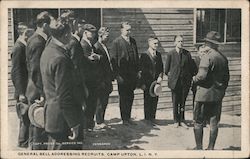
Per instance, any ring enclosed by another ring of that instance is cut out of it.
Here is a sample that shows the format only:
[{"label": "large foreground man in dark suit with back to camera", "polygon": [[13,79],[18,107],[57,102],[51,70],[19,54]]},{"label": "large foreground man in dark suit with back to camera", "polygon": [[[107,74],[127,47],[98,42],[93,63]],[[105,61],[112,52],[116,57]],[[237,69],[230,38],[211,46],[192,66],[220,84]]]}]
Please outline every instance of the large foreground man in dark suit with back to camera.
[{"label": "large foreground man in dark suit with back to camera", "polygon": [[46,96],[45,130],[48,150],[75,150],[82,147],[83,111],[74,96],[74,64],[66,48],[71,28],[63,21],[51,25],[52,38],[41,57],[41,73]]}]

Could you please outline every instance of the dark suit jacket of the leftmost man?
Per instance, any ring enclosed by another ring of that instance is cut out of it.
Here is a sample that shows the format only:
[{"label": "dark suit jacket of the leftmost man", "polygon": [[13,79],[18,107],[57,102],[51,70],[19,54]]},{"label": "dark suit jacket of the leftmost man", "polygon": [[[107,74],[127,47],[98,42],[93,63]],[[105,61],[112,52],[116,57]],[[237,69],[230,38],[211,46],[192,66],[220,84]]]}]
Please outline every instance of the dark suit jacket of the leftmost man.
[{"label": "dark suit jacket of the leftmost man", "polygon": [[11,53],[11,79],[15,87],[15,98],[20,94],[25,95],[28,84],[28,70],[26,64],[25,45],[19,40],[16,41]]}]

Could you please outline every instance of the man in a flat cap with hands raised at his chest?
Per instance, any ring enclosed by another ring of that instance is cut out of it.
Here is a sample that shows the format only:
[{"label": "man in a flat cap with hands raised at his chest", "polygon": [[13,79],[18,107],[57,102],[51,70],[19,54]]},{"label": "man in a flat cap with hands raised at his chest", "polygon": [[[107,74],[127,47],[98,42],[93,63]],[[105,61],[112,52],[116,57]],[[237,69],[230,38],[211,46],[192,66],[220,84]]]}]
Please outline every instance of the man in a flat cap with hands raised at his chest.
[{"label": "man in a flat cap with hands raised at his chest", "polygon": [[86,86],[89,92],[86,99],[86,108],[84,113],[86,117],[86,128],[91,130],[95,126],[94,115],[97,106],[97,87],[100,84],[101,79],[98,64],[100,55],[95,53],[95,47],[92,45],[92,41],[95,38],[96,27],[92,24],[85,24],[83,26],[83,30],[81,40],[81,46],[83,49],[82,62],[86,77]]}]

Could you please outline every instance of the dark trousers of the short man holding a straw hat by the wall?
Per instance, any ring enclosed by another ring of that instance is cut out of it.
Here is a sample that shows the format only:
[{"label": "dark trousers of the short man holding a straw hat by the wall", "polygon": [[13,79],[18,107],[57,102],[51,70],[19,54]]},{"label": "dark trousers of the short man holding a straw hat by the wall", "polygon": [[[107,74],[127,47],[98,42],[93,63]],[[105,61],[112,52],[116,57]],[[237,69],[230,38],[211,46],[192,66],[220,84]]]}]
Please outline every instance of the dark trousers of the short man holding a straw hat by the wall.
[{"label": "dark trousers of the short man holding a straw hat by the wall", "polygon": [[155,119],[158,96],[151,97],[148,88],[144,91],[144,118],[146,120],[153,120]]}]

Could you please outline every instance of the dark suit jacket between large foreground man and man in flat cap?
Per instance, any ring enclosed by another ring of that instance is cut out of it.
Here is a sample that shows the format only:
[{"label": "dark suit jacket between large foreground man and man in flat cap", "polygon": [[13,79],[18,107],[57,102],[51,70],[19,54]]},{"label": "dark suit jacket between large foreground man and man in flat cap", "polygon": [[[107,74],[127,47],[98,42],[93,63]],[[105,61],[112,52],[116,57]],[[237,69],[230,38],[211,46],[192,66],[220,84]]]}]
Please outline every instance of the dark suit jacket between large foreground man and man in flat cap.
[{"label": "dark suit jacket between large foreground man and man in flat cap", "polygon": [[[84,72],[84,66],[83,66],[83,49],[80,44],[80,41],[78,41],[74,36],[71,37],[69,44],[66,46],[68,50],[70,50],[71,60],[74,64],[74,74],[76,88],[75,88],[75,96],[77,99],[85,99],[87,97],[87,87],[85,84],[85,72]],[[81,98],[81,97],[83,98]]]}]

